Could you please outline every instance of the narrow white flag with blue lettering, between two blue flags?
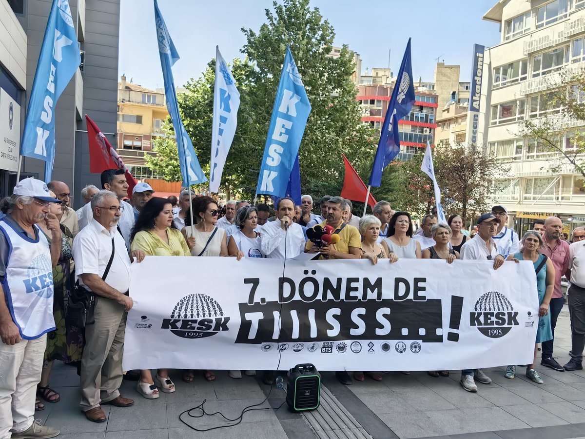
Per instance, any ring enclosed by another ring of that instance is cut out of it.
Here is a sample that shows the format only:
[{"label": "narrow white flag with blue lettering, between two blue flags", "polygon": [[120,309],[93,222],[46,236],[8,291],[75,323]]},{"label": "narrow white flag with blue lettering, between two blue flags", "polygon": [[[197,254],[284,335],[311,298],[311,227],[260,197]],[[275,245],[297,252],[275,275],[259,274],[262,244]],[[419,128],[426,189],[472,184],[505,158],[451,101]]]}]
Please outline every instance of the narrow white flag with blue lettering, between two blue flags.
[{"label": "narrow white flag with blue lettering, between two blue flags", "polygon": [[209,166],[209,190],[219,191],[223,165],[232,146],[238,125],[240,94],[236,80],[223,60],[219,47],[215,54],[214,119],[211,131],[211,164]]}]

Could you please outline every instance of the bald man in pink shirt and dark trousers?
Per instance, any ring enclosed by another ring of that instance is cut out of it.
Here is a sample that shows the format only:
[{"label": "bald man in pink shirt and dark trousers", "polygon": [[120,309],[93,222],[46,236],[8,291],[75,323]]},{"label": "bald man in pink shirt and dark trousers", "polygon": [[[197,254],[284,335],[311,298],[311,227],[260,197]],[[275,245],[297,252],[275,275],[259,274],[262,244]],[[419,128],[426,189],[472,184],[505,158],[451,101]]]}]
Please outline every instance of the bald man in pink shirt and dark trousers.
[{"label": "bald man in pink shirt and dark trousers", "polygon": [[563,372],[561,366],[552,356],[552,347],[555,337],[556,319],[559,317],[560,310],[565,304],[565,297],[560,290],[560,278],[565,275],[569,268],[569,244],[562,239],[563,223],[560,218],[548,217],[545,220],[545,231],[542,234],[543,245],[539,251],[552,260],[555,266],[555,292],[552,294],[549,304],[550,327],[552,328],[553,339],[542,342],[542,361],[541,365],[555,371]]}]

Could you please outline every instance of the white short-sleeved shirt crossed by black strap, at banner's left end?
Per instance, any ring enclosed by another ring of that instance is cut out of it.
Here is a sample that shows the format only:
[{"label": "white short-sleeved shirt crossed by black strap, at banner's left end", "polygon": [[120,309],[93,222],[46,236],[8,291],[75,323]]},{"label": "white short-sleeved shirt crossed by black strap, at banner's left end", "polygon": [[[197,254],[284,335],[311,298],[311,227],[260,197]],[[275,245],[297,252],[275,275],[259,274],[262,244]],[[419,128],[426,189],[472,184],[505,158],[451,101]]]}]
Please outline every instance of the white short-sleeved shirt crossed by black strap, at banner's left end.
[{"label": "white short-sleeved shirt crossed by black strap, at banner's left end", "polygon": [[73,240],[75,279],[79,280],[80,285],[83,285],[81,280],[83,274],[98,275],[99,277],[104,275],[112,255],[112,238],[114,240],[114,256],[112,266],[104,282],[121,293],[128,291],[130,288],[130,256],[128,256],[125,241],[115,227],[108,230],[95,219],[92,219],[90,224],[84,227]]}]

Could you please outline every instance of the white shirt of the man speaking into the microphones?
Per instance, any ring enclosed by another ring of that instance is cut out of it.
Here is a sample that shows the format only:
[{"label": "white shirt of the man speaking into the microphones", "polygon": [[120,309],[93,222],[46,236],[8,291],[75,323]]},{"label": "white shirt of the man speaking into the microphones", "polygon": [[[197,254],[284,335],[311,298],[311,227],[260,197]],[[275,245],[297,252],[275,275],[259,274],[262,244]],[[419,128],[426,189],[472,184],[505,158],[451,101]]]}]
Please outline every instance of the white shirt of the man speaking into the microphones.
[{"label": "white shirt of the man speaking into the microphones", "polygon": [[280,227],[280,219],[267,222],[262,226],[260,246],[266,258],[284,259],[284,246],[287,247],[287,259],[296,258],[305,251],[305,235],[296,222],[288,225],[287,239],[285,231]]}]

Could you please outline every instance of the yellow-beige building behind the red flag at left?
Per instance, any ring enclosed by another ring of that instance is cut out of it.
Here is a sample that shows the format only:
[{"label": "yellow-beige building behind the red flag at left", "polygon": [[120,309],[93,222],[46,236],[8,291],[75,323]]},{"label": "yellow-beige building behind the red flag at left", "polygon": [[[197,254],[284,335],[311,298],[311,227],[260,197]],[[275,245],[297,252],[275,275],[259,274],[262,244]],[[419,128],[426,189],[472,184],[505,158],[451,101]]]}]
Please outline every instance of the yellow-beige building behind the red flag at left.
[{"label": "yellow-beige building behind the red flag at left", "polygon": [[168,116],[164,91],[149,90],[126,81],[118,83],[118,155],[136,179],[156,179],[144,162],[144,154],[154,155],[153,140],[161,133]]}]

